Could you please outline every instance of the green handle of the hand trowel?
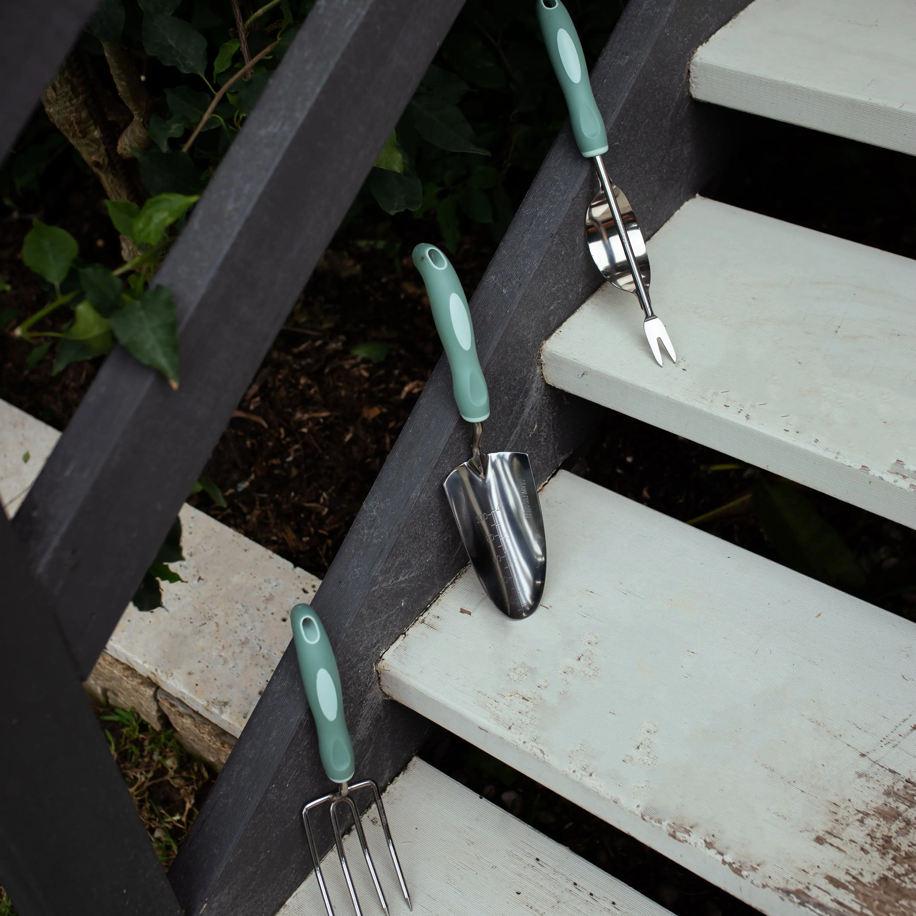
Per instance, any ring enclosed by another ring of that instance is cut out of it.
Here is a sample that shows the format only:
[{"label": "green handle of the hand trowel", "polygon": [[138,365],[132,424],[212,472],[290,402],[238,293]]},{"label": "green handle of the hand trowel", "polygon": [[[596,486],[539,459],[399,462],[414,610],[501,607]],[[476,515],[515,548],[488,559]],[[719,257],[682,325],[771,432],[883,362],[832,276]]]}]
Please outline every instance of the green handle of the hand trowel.
[{"label": "green handle of the hand trowel", "polygon": [[461,281],[449,259],[435,245],[417,245],[413,263],[423,275],[436,330],[452,368],[452,390],[458,412],[469,423],[490,416],[490,396],[477,359],[474,325]]}]

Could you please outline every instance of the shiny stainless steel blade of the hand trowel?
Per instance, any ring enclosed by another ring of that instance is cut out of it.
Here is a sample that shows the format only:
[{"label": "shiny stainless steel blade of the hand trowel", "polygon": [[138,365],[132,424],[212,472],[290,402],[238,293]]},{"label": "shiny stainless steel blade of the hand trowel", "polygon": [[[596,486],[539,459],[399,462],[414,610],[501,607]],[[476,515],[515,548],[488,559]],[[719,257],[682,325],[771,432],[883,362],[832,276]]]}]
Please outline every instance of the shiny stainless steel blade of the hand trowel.
[{"label": "shiny stainless steel blade of the hand trowel", "polygon": [[544,519],[538,488],[524,452],[474,458],[445,478],[445,494],[477,577],[507,616],[533,614],[547,572]]}]

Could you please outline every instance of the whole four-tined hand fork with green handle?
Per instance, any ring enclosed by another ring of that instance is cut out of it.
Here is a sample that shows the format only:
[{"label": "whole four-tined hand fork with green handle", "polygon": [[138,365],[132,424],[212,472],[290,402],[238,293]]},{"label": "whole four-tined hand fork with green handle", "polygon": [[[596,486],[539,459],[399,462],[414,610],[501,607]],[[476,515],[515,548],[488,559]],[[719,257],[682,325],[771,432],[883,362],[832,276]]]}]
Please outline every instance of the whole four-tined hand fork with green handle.
[{"label": "whole four-tined hand fork with green handle", "polygon": [[315,878],[318,879],[318,887],[322,892],[324,908],[328,911],[328,916],[334,916],[331,898],[328,896],[328,889],[322,875],[322,862],[318,856],[315,837],[311,832],[309,814],[316,808],[328,804],[330,805],[334,843],[337,845],[337,856],[340,858],[341,868],[344,869],[344,880],[346,881],[347,889],[350,891],[350,900],[353,900],[356,916],[363,916],[363,911],[360,909],[359,900],[356,897],[353,877],[344,853],[344,839],[341,833],[340,818],[337,814],[338,808],[341,807],[349,808],[353,816],[356,836],[363,850],[365,864],[369,869],[372,883],[375,885],[378,902],[381,903],[382,910],[386,913],[388,912],[385,893],[382,891],[381,883],[378,880],[376,866],[372,861],[369,847],[365,843],[363,825],[360,823],[359,812],[353,800],[354,791],[371,789],[376,800],[378,819],[385,830],[388,852],[391,854],[391,861],[398,875],[401,893],[412,911],[413,906],[410,903],[407,883],[404,880],[404,873],[401,871],[394,841],[391,839],[391,831],[388,829],[388,819],[385,816],[385,805],[382,804],[381,792],[378,791],[378,786],[373,780],[363,780],[362,782],[350,784],[354,774],[353,743],[350,740],[350,733],[347,731],[346,722],[344,721],[344,695],[341,692],[341,679],[337,671],[337,661],[334,659],[331,642],[324,631],[322,621],[311,609],[310,605],[296,605],[292,609],[289,618],[292,621],[292,638],[296,643],[296,656],[299,659],[302,685],[305,687],[305,695],[309,699],[311,714],[315,719],[315,727],[318,729],[318,749],[322,757],[324,772],[328,774],[329,780],[336,782],[339,786],[338,791],[322,795],[321,798],[308,802],[302,809],[302,823],[305,824],[305,834],[309,840],[311,861],[315,866]]}]

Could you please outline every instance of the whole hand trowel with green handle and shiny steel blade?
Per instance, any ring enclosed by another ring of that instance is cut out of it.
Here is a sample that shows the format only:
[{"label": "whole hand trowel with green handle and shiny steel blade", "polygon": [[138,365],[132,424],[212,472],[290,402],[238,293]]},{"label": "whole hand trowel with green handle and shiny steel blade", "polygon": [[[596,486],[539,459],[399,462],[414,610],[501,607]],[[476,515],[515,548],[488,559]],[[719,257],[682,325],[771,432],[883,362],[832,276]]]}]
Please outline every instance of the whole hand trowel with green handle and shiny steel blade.
[{"label": "whole hand trowel with green handle and shiny steel blade", "polygon": [[490,398],[464,290],[449,259],[434,245],[417,245],[413,263],[426,283],[452,369],[458,412],[474,424],[472,456],[445,478],[445,495],[486,594],[507,616],[527,617],[540,604],[547,571],[544,519],[531,462],[524,452],[481,452]]}]

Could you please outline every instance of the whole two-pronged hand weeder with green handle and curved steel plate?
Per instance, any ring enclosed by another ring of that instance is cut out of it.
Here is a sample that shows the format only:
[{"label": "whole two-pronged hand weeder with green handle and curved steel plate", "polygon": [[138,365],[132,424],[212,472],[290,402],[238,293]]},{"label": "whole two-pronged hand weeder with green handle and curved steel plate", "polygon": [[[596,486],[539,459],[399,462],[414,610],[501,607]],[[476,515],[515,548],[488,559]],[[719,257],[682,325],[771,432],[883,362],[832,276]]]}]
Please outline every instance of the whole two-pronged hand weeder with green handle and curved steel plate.
[{"label": "whole two-pronged hand weeder with green handle and curved steel plate", "polygon": [[607,152],[605,122],[594,104],[582,44],[573,20],[561,0],[536,0],[540,30],[553,71],[560,81],[579,151],[594,161],[599,191],[585,212],[588,249],[598,269],[618,289],[636,294],[646,319],[643,328],[655,361],[662,365],[659,342],[676,363],[674,346],[665,325],[649,300],[649,255],[624,192],[608,177],[602,154]]}]

